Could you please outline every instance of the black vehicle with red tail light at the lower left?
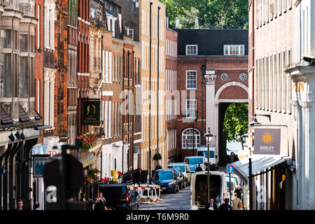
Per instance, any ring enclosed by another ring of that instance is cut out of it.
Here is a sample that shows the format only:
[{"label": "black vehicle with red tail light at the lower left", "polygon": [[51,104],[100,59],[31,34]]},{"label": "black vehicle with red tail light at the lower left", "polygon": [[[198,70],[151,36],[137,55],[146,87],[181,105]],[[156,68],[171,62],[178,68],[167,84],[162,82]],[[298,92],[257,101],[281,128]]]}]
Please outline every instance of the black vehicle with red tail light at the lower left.
[{"label": "black vehicle with red tail light at the lower left", "polygon": [[103,194],[107,209],[111,210],[137,210],[139,209],[139,195],[134,185],[126,183],[99,183],[95,186],[94,198]]}]

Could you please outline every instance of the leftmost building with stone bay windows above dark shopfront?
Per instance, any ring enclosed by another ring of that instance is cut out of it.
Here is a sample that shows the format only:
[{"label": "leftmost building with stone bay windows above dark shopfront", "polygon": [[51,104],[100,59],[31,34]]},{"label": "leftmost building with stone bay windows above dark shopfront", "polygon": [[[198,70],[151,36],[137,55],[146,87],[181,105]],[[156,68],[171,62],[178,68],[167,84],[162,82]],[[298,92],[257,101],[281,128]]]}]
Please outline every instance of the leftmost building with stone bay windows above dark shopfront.
[{"label": "leftmost building with stone bay windows above dark shopfront", "polygon": [[[31,151],[41,137],[36,112],[35,57],[37,1],[0,1],[0,209],[13,210],[18,198],[31,208]],[[41,2],[42,3],[42,2]],[[37,54],[38,55],[38,54]],[[40,83],[38,81],[37,83]],[[39,91],[40,92],[40,91]],[[38,105],[38,104],[37,104]],[[37,109],[40,109],[38,106]]]}]

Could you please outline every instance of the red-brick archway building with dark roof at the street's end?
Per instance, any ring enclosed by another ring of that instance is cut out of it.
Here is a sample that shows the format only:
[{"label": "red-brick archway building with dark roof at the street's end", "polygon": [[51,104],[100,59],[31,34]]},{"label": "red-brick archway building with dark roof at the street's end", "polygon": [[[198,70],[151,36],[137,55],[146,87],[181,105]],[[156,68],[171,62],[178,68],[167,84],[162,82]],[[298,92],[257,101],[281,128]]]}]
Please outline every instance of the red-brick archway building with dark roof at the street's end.
[{"label": "red-brick archway building with dark roof at the street's end", "polygon": [[[225,164],[223,120],[233,102],[248,102],[248,30],[176,29],[178,31],[177,83],[179,91],[176,145],[183,162],[205,146],[210,128],[211,145]],[[209,40],[210,44],[209,44]],[[204,66],[204,73],[202,71]],[[194,131],[193,131],[194,130]]]}]

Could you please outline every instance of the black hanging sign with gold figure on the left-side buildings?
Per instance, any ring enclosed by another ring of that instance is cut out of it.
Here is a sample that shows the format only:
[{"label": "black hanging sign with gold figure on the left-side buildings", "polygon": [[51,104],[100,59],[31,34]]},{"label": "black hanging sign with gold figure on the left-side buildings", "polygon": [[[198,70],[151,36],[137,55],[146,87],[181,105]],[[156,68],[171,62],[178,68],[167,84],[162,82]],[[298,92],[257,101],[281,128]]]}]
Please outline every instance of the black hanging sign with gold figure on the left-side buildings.
[{"label": "black hanging sign with gold figure on the left-side buildings", "polygon": [[100,125],[101,102],[99,100],[82,101],[82,125]]}]

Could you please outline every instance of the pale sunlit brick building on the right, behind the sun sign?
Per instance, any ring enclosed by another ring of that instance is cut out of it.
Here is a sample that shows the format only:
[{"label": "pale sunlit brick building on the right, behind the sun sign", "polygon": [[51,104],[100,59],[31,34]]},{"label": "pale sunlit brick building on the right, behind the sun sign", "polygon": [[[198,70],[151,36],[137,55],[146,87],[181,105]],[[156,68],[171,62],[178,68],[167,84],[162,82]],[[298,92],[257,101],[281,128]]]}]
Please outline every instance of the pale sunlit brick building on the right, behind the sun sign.
[{"label": "pale sunlit brick building on the right, behind the sun sign", "polygon": [[[293,35],[297,29],[297,11],[293,3],[249,1],[248,121],[256,118],[263,128],[281,130],[280,154],[277,156],[286,161],[286,164],[272,166],[265,170],[265,174],[255,177],[253,184],[265,188],[265,200],[259,203],[254,197],[253,209],[293,209],[296,203],[295,174],[290,165],[296,160],[297,125],[291,103],[292,80],[285,72],[286,67],[297,62],[297,39]],[[272,127],[268,127],[270,125]],[[257,128],[250,126],[248,130],[247,144],[253,155],[253,137]]]}]

